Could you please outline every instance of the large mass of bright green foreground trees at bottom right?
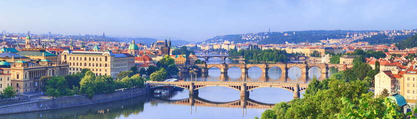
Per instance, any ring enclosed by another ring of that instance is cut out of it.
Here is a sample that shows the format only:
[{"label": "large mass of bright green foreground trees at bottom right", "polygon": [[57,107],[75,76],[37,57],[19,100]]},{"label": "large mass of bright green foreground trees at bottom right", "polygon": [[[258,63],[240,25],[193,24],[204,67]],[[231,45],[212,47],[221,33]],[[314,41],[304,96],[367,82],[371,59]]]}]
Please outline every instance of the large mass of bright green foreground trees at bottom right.
[{"label": "large mass of bright green foreground trees at bottom right", "polygon": [[404,119],[402,109],[382,95],[368,92],[366,80],[344,81],[331,76],[310,82],[303,95],[281,102],[262,113],[261,119]]}]

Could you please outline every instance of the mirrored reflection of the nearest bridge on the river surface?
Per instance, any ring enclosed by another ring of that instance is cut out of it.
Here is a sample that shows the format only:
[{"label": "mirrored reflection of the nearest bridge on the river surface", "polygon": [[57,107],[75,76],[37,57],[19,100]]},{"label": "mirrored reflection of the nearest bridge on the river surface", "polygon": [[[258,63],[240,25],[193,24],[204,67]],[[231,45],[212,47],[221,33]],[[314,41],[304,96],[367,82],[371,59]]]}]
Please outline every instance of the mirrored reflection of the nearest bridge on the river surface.
[{"label": "mirrored reflection of the nearest bridge on the river surface", "polygon": [[213,102],[202,99],[195,95],[190,95],[187,99],[182,100],[168,100],[163,98],[150,98],[152,103],[170,103],[175,105],[189,105],[189,106],[201,106],[201,107],[226,107],[226,108],[253,108],[253,109],[270,109],[275,104],[265,104],[254,101],[248,97],[240,97],[240,100],[230,102]]}]

